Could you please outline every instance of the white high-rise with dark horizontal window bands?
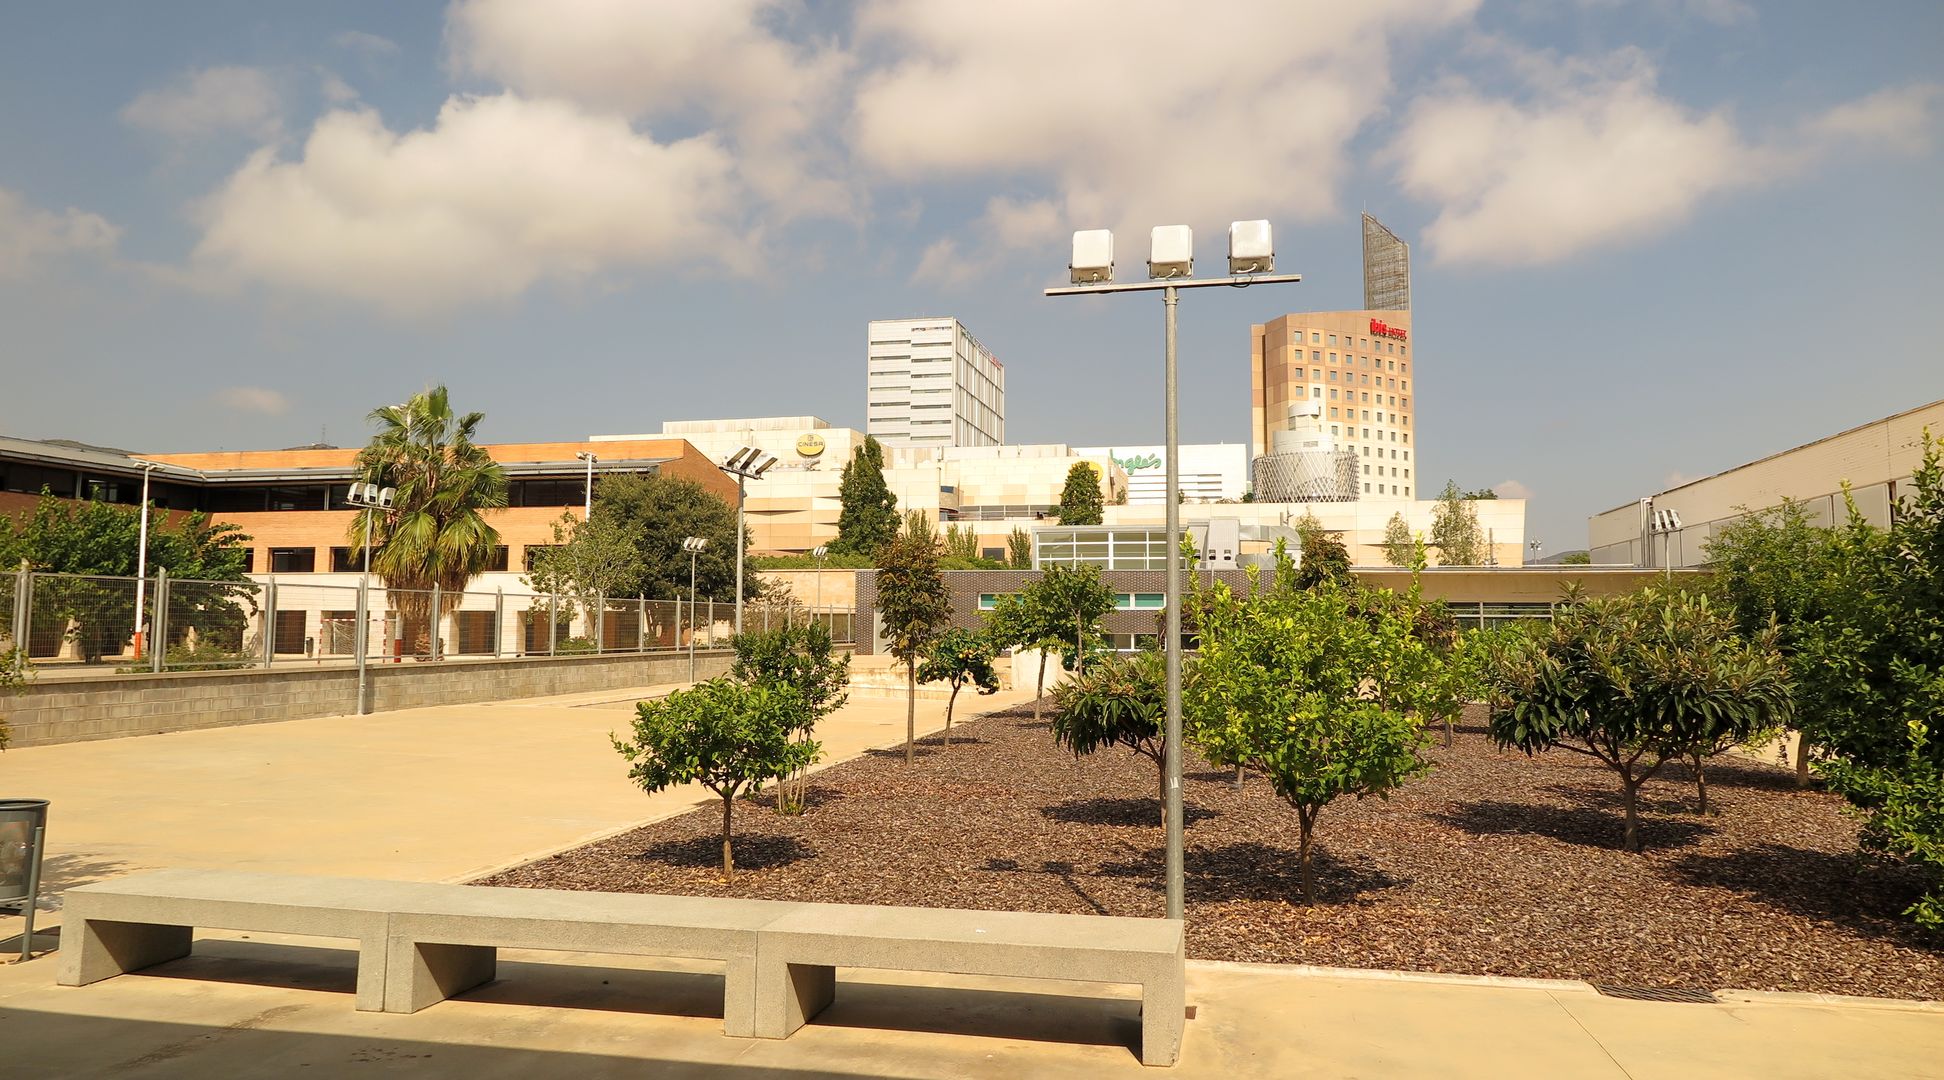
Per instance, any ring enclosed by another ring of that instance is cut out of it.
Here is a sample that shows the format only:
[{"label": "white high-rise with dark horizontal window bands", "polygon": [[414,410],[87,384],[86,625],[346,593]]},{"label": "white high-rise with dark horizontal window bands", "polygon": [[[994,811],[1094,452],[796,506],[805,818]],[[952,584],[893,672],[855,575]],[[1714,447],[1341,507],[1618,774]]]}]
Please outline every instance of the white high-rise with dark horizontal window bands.
[{"label": "white high-rise with dark horizontal window bands", "polygon": [[886,447],[1003,447],[1005,365],[956,319],[875,319],[865,431]]}]

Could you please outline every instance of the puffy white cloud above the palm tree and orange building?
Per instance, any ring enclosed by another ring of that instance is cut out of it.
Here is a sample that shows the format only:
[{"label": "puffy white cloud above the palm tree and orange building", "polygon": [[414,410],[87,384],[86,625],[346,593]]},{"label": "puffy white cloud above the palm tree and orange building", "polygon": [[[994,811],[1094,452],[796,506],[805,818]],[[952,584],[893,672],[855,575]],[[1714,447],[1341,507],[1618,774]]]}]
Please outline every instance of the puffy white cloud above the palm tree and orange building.
[{"label": "puffy white cloud above the palm tree and orange building", "polygon": [[253,153],[204,200],[194,266],[397,313],[503,299],[540,280],[667,262],[746,270],[731,159],[515,93],[453,97],[432,128],[317,120],[301,157]]}]

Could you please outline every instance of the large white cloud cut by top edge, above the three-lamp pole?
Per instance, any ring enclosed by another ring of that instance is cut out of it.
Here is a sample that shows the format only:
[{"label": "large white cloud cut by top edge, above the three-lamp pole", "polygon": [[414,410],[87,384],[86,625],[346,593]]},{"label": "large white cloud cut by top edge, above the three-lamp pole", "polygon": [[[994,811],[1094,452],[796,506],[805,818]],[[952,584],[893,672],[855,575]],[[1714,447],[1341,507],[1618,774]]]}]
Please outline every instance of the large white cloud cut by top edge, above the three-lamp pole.
[{"label": "large white cloud cut by top edge, above the three-lamp pole", "polygon": [[[1139,231],[1337,210],[1347,144],[1390,95],[1392,43],[1472,0],[885,0],[857,17],[853,152],[879,179],[1026,181],[995,202],[999,243],[1071,227]],[[1030,225],[1030,227],[1028,227]],[[1048,227],[1052,225],[1052,227]]]}]

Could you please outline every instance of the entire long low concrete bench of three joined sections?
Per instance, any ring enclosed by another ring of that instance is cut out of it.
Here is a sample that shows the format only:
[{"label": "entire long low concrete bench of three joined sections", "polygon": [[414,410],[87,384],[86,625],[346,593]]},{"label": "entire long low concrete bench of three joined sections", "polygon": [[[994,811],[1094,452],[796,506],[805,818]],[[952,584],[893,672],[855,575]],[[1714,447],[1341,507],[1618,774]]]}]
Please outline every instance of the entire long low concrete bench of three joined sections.
[{"label": "entire long low concrete bench of three joined sections", "polygon": [[494,979],[498,950],[723,962],[723,1031],[787,1039],[836,996],[838,967],[1131,983],[1141,1061],[1174,1064],[1182,923],[768,899],[509,890],[152,870],[66,894],[56,981],[82,987],[189,956],[192,930],[358,942],[358,1008],[418,1012]]}]

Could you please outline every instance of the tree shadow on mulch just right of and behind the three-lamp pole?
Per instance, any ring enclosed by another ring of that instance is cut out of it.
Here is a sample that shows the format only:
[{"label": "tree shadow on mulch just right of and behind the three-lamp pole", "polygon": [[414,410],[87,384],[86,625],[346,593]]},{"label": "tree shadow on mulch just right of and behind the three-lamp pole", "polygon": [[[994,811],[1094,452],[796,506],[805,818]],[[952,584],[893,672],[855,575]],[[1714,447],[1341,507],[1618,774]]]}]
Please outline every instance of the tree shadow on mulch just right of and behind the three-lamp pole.
[{"label": "tree shadow on mulch just right of and behind the three-lamp pole", "polygon": [[[1166,849],[1151,847],[1133,862],[1102,862],[1102,878],[1131,878],[1141,888],[1164,892]],[[1318,903],[1361,901],[1365,894],[1404,888],[1411,878],[1382,870],[1372,859],[1357,855],[1337,859],[1322,847],[1310,849],[1316,872]],[[1232,899],[1302,901],[1302,868],[1297,851],[1258,841],[1238,841],[1225,847],[1190,847],[1182,853],[1182,888],[1196,903]]]}]

